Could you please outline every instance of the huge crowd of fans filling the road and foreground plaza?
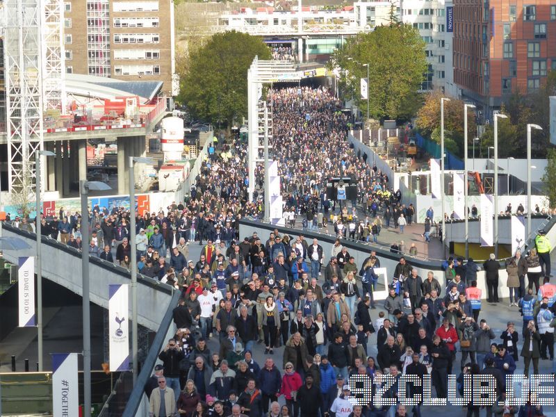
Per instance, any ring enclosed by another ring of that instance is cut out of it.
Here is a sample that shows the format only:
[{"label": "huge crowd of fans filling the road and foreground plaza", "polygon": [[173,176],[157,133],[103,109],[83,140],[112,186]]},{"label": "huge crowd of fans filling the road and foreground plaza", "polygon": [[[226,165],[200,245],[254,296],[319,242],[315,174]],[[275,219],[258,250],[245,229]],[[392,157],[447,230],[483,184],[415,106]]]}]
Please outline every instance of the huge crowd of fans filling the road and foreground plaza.
[{"label": "huge crowd of fans filling the road and foreground plaza", "polygon": [[[347,119],[330,92],[286,88],[272,90],[268,99],[284,213],[293,212],[293,224],[301,216],[307,226],[318,227],[332,211],[338,236],[376,242],[382,227],[392,224],[403,231],[414,221],[413,206],[400,204],[388,177],[350,148]],[[261,184],[255,201],[247,197],[246,152],[240,138],[216,144],[186,202],[136,217],[138,270],[181,291],[173,311],[176,334],[145,385],[151,416],[420,416],[420,405],[354,406],[350,379],[367,375],[376,388],[384,375],[396,381],[403,374],[430,375],[434,395],[445,398],[452,372],[459,382],[467,373],[496,377],[500,402],[487,413],[543,414],[542,407],[530,402],[514,407],[504,396],[504,377],[515,372],[520,358],[529,375],[530,363],[537,374],[539,361],[554,357],[556,291],[546,262],[541,265],[534,251],[523,258],[516,254],[507,265],[515,278],[509,281],[515,288],[510,303],[518,304],[521,332],[509,320],[507,329],[495,334],[481,316],[480,266],[472,259],[448,259],[439,279],[433,272],[420,277],[400,256],[389,277],[389,295],[379,304],[373,293],[381,259],[375,252],[357,265],[341,239],[329,253],[316,239],[308,242],[302,234],[278,230],[264,241],[256,233],[241,239],[238,220],[263,211]],[[327,177],[357,183],[352,213],[347,205],[336,213],[325,197]],[[358,202],[374,220],[354,222]],[[83,250],[81,216],[59,214],[42,219],[42,234]],[[124,208],[92,207],[89,252],[129,266],[129,215]],[[17,222],[28,227],[26,220]],[[189,255],[193,243],[202,247],[199,259]],[[489,259],[482,265],[489,302],[498,302],[497,264]],[[514,314],[519,317],[517,309]],[[411,385],[409,392],[420,393],[420,387]],[[388,396],[398,398],[397,382]],[[471,400],[468,416],[478,412]]]}]

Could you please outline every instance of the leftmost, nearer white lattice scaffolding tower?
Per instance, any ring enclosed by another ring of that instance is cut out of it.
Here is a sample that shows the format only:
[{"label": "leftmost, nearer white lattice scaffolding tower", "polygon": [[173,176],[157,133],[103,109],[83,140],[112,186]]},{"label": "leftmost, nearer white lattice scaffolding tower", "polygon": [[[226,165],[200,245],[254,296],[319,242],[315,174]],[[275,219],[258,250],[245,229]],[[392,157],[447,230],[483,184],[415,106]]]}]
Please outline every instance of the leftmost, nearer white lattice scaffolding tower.
[{"label": "leftmost, nearer white lattice scaffolding tower", "polygon": [[42,9],[38,0],[3,1],[8,183],[32,193],[35,152],[42,149]]}]

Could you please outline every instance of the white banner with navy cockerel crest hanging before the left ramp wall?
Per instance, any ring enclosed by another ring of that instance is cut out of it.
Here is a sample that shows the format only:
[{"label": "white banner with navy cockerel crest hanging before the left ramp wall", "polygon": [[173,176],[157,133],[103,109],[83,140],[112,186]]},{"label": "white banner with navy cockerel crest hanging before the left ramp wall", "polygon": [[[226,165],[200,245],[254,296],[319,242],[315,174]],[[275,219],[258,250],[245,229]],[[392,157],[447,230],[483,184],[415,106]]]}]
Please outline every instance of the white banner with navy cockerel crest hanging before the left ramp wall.
[{"label": "white banner with navy cockerel crest hanging before the left ramp wall", "polygon": [[129,285],[108,286],[110,370],[129,370]]}]

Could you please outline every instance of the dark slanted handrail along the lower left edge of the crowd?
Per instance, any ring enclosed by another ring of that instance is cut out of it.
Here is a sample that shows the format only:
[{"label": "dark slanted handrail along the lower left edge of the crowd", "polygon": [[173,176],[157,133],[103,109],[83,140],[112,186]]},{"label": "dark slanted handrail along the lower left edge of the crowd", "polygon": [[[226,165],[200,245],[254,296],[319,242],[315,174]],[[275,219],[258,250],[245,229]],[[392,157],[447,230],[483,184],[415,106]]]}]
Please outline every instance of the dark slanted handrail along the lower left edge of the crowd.
[{"label": "dark slanted handrail along the lower left edge of the crowd", "polygon": [[145,362],[141,368],[141,372],[137,377],[137,382],[133,386],[133,391],[131,391],[131,395],[129,395],[129,400],[126,405],[126,409],[124,410],[124,414],[122,417],[134,417],[138,411],[139,405],[142,401],[142,397],[145,394],[145,384],[147,384],[147,379],[151,377],[152,371],[154,370],[154,366],[156,364],[156,359],[158,359],[158,352],[161,351],[163,344],[166,340],[166,334],[170,326],[172,325],[173,320],[173,311],[174,307],[177,306],[179,297],[181,293],[179,291],[175,291],[172,295],[172,301],[168,306],[164,318],[162,319],[161,325],[158,328],[158,332],[156,332],[156,336],[154,336],[154,341],[152,342],[151,349],[149,350],[149,354],[145,358]]}]

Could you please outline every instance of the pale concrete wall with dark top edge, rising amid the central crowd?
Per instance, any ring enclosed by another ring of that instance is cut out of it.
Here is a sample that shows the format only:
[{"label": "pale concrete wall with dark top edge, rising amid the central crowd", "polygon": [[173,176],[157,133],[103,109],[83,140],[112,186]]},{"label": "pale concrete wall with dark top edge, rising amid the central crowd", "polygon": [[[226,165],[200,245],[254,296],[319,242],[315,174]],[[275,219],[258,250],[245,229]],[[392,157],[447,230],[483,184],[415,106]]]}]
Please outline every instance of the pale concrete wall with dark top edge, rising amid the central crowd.
[{"label": "pale concrete wall with dark top edge, rising amid the central crowd", "polygon": [[[313,238],[317,238],[320,245],[325,252],[324,256],[324,266],[328,264],[328,261],[332,254],[332,246],[334,245],[334,240],[336,240],[336,236],[332,234],[324,234],[324,233],[316,233],[313,231],[306,231],[302,233],[301,230],[298,229],[290,229],[288,227],[275,227],[273,224],[263,223],[263,222],[254,222],[252,220],[240,220],[240,239],[243,240],[245,236],[252,236],[253,232],[256,231],[258,236],[261,238],[262,243],[265,243],[268,237],[270,236],[270,232],[277,229],[279,234],[288,234],[290,236],[296,237],[303,234],[305,236],[305,240],[309,245],[312,243]],[[556,237],[556,228],[553,228],[554,234]],[[382,248],[375,247],[369,243],[363,242],[354,242],[346,239],[341,240],[342,245],[347,247],[347,252],[350,253],[351,256],[354,256],[355,263],[357,264],[358,268],[361,267],[361,263],[366,259],[366,257],[370,254],[371,250],[377,251],[377,257],[380,260],[380,265],[383,268],[386,268],[386,277],[388,278],[389,282],[391,282],[391,278],[393,276],[393,272],[395,266],[398,264],[399,255],[392,254],[391,252],[387,252]],[[445,294],[445,279],[444,279],[444,272],[441,270],[440,263],[434,263],[431,261],[424,261],[421,259],[415,259],[411,256],[406,256],[407,261],[410,265],[418,270],[418,274],[420,277],[425,279],[427,277],[427,272],[432,271],[434,272],[434,277],[438,279],[439,283],[442,286],[442,293]],[[500,270],[500,279],[498,282],[498,295],[500,297],[508,297],[509,292],[506,286],[507,281],[507,273],[505,270]],[[381,281],[382,284],[382,281]],[[486,299],[486,283],[484,281],[484,272],[479,271],[477,272],[477,286],[482,289],[482,298]],[[377,300],[384,300],[384,297],[377,297]]]}]

